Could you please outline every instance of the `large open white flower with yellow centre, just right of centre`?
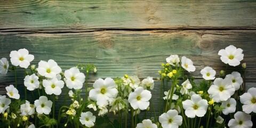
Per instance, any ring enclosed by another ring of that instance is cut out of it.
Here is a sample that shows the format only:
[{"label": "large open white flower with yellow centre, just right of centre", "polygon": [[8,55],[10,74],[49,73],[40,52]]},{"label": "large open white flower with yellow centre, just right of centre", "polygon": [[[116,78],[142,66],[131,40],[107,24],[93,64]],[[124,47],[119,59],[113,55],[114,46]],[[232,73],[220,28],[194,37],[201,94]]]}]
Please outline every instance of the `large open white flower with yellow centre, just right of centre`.
[{"label": "large open white flower with yellow centre, just right of centre", "polygon": [[134,92],[130,93],[128,101],[131,103],[133,109],[145,110],[149,106],[149,100],[151,98],[151,92],[144,90],[139,86]]}]

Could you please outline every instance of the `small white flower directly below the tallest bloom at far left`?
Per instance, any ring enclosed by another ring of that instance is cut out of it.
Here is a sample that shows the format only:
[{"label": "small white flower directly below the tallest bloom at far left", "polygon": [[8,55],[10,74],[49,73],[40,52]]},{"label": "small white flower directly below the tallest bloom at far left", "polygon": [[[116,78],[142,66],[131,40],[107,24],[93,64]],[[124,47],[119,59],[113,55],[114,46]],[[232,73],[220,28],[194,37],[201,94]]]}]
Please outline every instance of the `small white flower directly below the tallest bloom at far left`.
[{"label": "small white flower directly below the tallest bloom at far left", "polygon": [[24,85],[27,87],[27,90],[29,91],[33,91],[35,89],[38,89],[39,87],[39,81],[38,81],[38,76],[36,76],[36,74],[32,74],[32,75],[27,75],[24,78]]}]

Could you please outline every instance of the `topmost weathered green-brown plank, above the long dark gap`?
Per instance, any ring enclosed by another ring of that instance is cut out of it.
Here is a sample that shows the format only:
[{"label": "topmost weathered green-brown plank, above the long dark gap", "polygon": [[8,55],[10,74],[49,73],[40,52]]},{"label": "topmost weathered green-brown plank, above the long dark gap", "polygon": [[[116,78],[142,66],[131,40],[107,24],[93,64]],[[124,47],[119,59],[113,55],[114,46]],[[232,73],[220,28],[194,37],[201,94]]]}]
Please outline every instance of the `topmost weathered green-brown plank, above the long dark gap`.
[{"label": "topmost weathered green-brown plank, above the long dark gap", "polygon": [[256,27],[256,1],[0,1],[0,29]]}]

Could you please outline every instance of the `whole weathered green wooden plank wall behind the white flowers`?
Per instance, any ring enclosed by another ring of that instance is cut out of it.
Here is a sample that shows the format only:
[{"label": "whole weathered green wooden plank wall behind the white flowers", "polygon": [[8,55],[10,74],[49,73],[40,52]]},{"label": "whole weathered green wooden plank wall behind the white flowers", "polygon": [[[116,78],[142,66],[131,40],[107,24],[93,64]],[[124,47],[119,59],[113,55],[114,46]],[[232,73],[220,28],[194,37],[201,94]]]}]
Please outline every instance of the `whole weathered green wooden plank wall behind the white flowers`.
[{"label": "whole weathered green wooden plank wall behind the white flowers", "polygon": [[[247,87],[256,86],[256,1],[0,0],[0,58],[26,48],[35,65],[94,63],[91,83],[124,74],[156,79],[171,54],[193,60],[190,75],[199,81],[205,66],[225,69],[218,51],[231,44],[244,50]],[[18,75],[22,86],[23,69]],[[10,84],[13,73],[0,76],[0,94]]]}]

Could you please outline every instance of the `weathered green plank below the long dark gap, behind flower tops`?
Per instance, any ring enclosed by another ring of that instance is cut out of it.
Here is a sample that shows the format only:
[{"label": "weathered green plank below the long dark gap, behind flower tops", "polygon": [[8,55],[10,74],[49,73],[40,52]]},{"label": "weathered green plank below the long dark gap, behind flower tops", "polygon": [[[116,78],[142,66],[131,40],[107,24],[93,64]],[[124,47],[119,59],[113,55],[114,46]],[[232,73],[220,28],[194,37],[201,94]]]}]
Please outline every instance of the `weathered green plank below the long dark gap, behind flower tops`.
[{"label": "weathered green plank below the long dark gap, behind flower tops", "polygon": [[[256,79],[256,30],[166,30],[166,31],[93,31],[87,33],[0,33],[1,58],[9,58],[12,50],[26,48],[35,55],[34,65],[40,60],[54,59],[62,70],[78,63],[94,63],[100,77],[122,77],[124,74],[139,78],[159,77],[161,63],[171,54],[185,55],[194,61],[196,71],[188,74],[202,78],[199,71],[205,66],[225,69],[218,51],[228,45],[244,50],[247,63],[246,79]],[[228,70],[237,68],[228,67]],[[18,68],[23,78],[23,69]],[[0,77],[0,84],[13,82],[13,73]]]}]

